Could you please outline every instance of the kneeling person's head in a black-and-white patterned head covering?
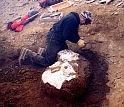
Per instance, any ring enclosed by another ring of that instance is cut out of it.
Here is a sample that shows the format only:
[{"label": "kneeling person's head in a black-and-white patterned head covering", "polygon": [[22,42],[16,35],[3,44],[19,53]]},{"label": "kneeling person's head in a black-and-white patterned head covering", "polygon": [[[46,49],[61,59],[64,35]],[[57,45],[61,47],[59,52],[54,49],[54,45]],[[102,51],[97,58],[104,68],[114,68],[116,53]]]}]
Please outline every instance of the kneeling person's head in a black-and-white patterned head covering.
[{"label": "kneeling person's head in a black-and-white patterned head covering", "polygon": [[92,22],[92,13],[90,11],[84,11],[80,15],[80,25],[88,25]]}]

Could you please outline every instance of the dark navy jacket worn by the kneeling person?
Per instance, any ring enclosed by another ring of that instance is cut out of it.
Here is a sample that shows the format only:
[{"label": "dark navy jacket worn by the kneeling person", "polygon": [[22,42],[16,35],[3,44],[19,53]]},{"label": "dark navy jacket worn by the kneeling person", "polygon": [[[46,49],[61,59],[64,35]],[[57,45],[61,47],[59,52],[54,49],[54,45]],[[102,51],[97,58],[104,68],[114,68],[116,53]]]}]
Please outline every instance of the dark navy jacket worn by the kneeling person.
[{"label": "dark navy jacket worn by the kneeling person", "polygon": [[80,39],[78,35],[79,24],[79,15],[75,12],[69,13],[53,25],[52,29],[56,35],[54,39],[62,42],[69,40],[73,43],[77,43]]}]

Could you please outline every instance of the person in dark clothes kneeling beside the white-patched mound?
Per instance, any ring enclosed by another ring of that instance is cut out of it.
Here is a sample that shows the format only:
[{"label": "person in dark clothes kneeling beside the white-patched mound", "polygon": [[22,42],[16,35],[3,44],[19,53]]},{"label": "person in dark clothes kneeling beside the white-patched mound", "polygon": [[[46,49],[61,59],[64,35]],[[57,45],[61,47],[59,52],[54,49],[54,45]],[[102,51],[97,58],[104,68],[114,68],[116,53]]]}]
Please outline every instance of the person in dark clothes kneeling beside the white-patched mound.
[{"label": "person in dark clothes kneeling beside the white-patched mound", "polygon": [[79,25],[88,25],[92,22],[92,13],[84,11],[80,14],[70,12],[58,22],[54,23],[46,36],[45,48],[39,48],[38,53],[22,48],[19,64],[27,60],[43,67],[56,62],[57,53],[68,49],[66,40],[76,43],[80,48],[85,46],[85,41],[78,34]]}]

